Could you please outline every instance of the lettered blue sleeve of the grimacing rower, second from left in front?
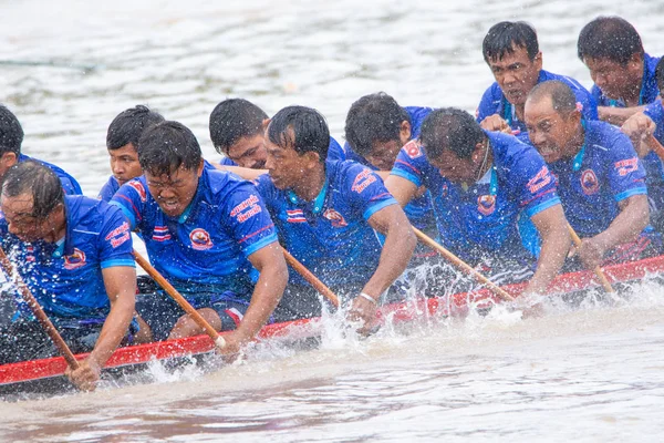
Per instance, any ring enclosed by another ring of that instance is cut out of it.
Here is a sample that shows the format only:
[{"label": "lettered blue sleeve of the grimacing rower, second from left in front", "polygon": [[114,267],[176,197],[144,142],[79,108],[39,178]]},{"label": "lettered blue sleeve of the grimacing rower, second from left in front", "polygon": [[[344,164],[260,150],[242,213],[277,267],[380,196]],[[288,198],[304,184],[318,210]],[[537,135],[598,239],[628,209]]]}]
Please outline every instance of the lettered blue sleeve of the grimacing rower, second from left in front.
[{"label": "lettered blue sleeve of the grimacing rower, second from left in front", "polygon": [[247,257],[277,241],[272,218],[251,183],[242,182],[226,195],[222,214],[228,214],[232,237]]}]

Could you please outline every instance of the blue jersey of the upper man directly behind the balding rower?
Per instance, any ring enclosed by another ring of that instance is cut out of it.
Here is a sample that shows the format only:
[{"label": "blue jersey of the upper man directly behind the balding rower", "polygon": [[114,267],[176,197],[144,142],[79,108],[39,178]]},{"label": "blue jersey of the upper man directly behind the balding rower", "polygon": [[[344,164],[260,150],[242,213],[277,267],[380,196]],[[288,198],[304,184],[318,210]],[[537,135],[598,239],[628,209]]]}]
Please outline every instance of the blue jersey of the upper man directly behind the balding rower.
[{"label": "blue jersey of the upper man directly behind the balding rower", "polygon": [[[578,81],[569,76],[558,75],[541,70],[537,82],[541,83],[549,80],[561,81],[572,89],[578,105],[582,106],[581,113],[585,120],[599,119],[596,101]],[[494,82],[494,84],[484,93],[481,101],[479,102],[479,107],[477,109],[477,122],[481,123],[486,117],[494,114],[499,114],[505,119],[512,128],[512,133],[522,142],[528,143],[528,128],[526,127],[526,123],[517,119],[515,106],[507,101],[498,82]]]}]

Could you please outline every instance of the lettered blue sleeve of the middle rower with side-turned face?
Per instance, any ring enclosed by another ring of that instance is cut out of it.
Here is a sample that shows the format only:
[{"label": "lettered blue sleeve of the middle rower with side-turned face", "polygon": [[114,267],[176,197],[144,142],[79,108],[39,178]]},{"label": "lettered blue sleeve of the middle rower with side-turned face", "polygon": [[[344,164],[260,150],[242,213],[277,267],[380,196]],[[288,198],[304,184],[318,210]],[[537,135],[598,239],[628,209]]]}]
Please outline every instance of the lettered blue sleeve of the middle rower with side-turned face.
[{"label": "lettered blue sleeve of the middle rower with side-turned face", "polygon": [[344,167],[346,196],[353,210],[363,219],[369,220],[384,207],[397,204],[376,173],[357,164]]}]

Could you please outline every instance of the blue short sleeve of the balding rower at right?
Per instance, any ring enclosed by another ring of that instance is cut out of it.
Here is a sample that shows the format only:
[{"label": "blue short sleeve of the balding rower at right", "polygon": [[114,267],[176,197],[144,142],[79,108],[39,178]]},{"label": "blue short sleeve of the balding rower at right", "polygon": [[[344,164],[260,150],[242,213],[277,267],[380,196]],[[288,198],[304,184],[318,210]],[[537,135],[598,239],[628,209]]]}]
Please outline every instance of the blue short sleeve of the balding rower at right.
[{"label": "blue short sleeve of the balding rower at right", "polygon": [[616,202],[633,195],[647,194],[645,169],[630,138],[615,130],[608,165],[609,186]]}]

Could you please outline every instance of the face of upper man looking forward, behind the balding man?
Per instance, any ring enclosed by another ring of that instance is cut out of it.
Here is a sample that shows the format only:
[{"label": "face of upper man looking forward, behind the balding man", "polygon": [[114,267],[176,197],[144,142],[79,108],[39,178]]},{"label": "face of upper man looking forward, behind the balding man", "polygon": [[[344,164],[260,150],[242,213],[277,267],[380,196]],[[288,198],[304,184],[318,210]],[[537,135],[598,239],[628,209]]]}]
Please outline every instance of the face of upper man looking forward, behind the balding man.
[{"label": "face of upper man looking forward, behind the balding man", "polygon": [[507,101],[523,104],[537,84],[542,69],[542,54],[540,52],[530,60],[526,48],[512,45],[512,49],[515,51],[511,54],[506,52],[502,59],[490,59],[489,68]]}]

